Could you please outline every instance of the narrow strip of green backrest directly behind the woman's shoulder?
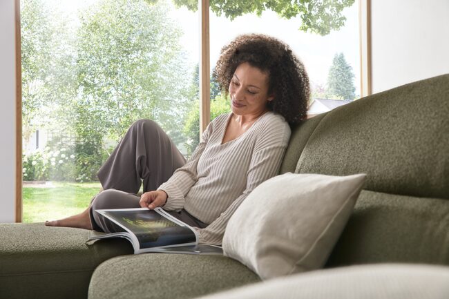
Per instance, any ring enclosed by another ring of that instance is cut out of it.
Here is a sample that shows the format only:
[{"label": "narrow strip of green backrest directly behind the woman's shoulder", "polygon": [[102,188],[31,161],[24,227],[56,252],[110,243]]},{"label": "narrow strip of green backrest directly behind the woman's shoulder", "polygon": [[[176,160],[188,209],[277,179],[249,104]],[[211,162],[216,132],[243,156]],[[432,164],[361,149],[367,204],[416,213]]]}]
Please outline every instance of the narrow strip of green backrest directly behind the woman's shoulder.
[{"label": "narrow strip of green backrest directly behind the woman's shoulder", "polygon": [[298,164],[300,154],[303,152],[305,144],[309,140],[310,135],[314,133],[316,126],[321,122],[327,113],[316,115],[307,121],[292,127],[292,135],[290,136],[287,151],[285,151],[284,159],[280,165],[280,173],[293,173]]}]

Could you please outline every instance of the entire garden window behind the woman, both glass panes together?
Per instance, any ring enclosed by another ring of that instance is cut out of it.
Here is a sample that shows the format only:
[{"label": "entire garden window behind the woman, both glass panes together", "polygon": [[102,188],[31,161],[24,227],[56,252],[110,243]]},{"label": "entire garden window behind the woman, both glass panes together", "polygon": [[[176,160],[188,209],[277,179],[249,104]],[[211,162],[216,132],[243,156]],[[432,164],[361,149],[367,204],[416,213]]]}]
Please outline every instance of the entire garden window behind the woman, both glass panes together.
[{"label": "entire garden window behind the woman, both glass panes together", "polygon": [[[204,115],[209,112],[213,118],[229,110],[227,99],[211,80],[211,110],[200,111],[204,90],[198,88],[202,78],[197,3],[17,1],[21,6],[23,221],[61,218],[85,209],[99,191],[95,176],[99,166],[135,120],[155,119],[189,155],[198,144],[200,118],[208,122]],[[209,1],[201,2],[209,7]],[[321,113],[332,103],[359,97],[365,88],[358,83],[362,60],[358,10],[369,12],[370,1],[339,2],[347,6],[341,12],[344,26],[321,36],[298,30],[303,23],[300,17],[282,19],[273,11],[278,8],[265,7],[258,17],[252,6],[268,5],[265,2],[211,1],[210,26],[201,23],[210,30],[210,44],[202,38],[203,48],[207,43],[210,50],[203,52],[210,52],[213,68],[220,48],[236,35],[261,32],[282,39],[305,64],[312,83],[311,112],[321,108]],[[287,3],[296,1],[283,5]],[[248,13],[220,11],[226,5]],[[369,35],[369,19],[363,20]],[[362,40],[363,45],[369,44],[369,37]],[[350,93],[331,86],[332,78],[343,77],[331,75],[333,68],[347,71],[345,89]]]}]

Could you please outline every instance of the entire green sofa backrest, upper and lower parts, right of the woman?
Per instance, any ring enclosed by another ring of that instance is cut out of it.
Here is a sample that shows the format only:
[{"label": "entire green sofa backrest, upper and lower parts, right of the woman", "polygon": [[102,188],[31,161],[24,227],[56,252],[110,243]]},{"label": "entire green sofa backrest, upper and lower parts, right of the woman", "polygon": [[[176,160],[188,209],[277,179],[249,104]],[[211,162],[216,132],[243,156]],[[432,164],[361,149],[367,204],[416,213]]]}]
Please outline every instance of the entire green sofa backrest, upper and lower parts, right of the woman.
[{"label": "entire green sofa backrest, upper and lower parts, right of the woman", "polygon": [[449,75],[400,86],[292,129],[281,173],[367,173],[328,266],[449,264]]}]

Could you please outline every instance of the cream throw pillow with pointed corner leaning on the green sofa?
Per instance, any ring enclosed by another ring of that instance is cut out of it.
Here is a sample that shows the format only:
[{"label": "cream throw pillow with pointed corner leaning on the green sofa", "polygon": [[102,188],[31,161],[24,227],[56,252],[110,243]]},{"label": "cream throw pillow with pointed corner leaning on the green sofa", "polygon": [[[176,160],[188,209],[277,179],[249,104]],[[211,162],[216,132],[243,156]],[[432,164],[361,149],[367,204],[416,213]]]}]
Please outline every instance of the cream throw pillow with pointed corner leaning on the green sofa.
[{"label": "cream throw pillow with pointed corner leaning on the green sofa", "polygon": [[262,279],[323,267],[365,179],[365,174],[272,177],[229,219],[222,244],[225,255]]}]

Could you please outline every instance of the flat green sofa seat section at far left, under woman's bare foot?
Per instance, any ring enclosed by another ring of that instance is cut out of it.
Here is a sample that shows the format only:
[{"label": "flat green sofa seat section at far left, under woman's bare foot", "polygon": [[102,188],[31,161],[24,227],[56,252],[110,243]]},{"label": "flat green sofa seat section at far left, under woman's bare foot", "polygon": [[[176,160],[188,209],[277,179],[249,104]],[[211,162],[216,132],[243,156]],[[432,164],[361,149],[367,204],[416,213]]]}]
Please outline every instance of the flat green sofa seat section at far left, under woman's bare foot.
[{"label": "flat green sofa seat section at far left, under woman's bare foot", "polygon": [[98,264],[132,252],[126,240],[86,245],[90,231],[0,224],[1,298],[86,298]]}]

